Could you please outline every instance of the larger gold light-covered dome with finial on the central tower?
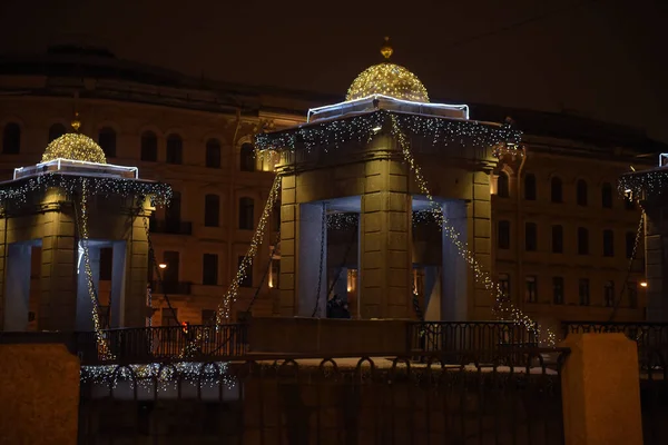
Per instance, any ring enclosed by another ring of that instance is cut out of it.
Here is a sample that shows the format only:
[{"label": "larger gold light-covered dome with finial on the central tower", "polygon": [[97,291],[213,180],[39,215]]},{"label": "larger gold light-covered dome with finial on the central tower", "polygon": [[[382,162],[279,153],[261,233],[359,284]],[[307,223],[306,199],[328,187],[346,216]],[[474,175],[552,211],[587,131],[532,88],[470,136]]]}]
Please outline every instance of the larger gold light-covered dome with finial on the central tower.
[{"label": "larger gold light-covered dome with finial on the central tower", "polygon": [[386,61],[362,71],[348,88],[346,101],[372,95],[383,95],[414,102],[429,102],[426,88],[418,79],[418,76],[404,67],[390,63],[392,52],[390,39],[386,37],[385,43],[381,48],[381,53]]}]

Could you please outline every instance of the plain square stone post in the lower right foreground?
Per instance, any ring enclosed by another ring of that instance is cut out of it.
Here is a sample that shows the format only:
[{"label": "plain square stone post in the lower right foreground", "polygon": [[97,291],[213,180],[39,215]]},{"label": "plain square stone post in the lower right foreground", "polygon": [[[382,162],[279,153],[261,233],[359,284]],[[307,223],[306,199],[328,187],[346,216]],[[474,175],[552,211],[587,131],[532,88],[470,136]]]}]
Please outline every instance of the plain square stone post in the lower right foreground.
[{"label": "plain square stone post in the lower right foreground", "polygon": [[642,444],[638,347],[623,334],[569,334],[561,374],[566,445]]}]

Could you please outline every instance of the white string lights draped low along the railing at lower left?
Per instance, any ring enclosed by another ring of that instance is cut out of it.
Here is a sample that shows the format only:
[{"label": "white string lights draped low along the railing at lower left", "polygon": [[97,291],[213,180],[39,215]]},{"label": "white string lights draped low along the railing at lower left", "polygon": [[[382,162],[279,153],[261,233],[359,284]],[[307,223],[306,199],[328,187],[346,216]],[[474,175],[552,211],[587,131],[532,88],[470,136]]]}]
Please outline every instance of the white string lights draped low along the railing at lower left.
[{"label": "white string lights draped low along the railing at lower left", "polygon": [[153,389],[155,383],[161,390],[169,389],[169,384],[176,386],[179,380],[209,387],[226,384],[233,388],[236,384],[236,379],[228,375],[228,364],[224,362],[81,366],[80,378],[82,383],[107,384],[111,388],[116,388],[119,382],[127,382],[134,388],[136,382],[145,389]]}]

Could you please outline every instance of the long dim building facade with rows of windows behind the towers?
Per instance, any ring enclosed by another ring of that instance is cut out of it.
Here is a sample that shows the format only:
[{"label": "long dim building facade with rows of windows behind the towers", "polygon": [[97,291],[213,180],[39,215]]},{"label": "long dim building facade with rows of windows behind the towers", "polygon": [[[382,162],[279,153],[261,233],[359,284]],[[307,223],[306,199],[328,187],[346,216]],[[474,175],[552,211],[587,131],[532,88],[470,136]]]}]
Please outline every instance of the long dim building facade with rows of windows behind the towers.
[{"label": "long dim building facade with rows of windows behind the towers", "polygon": [[[11,179],[13,168],[39,161],[78,111],[81,132],[98,141],[108,162],[138,166],[141,177],[171,185],[173,202],[150,227],[164,266],[164,285],[151,287],[154,323],[160,325],[175,323],[167,298],[179,322],[210,320],[248,249],[276,161],[256,156],[253,135],[297,125],[308,108],[336,101],[188,79],[75,48],[0,60],[0,89],[3,179]],[[502,158],[490,171],[482,192],[491,210],[477,228],[488,241],[475,248],[489,250],[491,274],[508,297],[548,325],[644,319],[642,237],[635,246],[640,210],[620,196],[617,178],[631,166],[648,165],[654,157],[642,155],[661,146],[573,117],[473,110],[482,120],[511,116],[524,131],[525,156]],[[425,174],[438,182],[438,171]],[[276,208],[253,270],[240,283],[233,318],[281,314],[279,251],[269,259],[279,220]],[[108,263],[102,251],[101,301],[110,291],[104,279]],[[354,287],[355,270],[347,274]],[[37,319],[37,305],[31,309],[30,319]]]}]

